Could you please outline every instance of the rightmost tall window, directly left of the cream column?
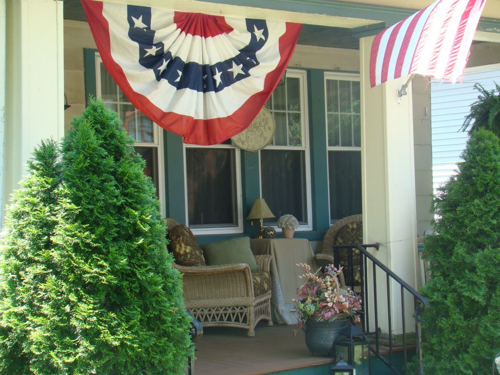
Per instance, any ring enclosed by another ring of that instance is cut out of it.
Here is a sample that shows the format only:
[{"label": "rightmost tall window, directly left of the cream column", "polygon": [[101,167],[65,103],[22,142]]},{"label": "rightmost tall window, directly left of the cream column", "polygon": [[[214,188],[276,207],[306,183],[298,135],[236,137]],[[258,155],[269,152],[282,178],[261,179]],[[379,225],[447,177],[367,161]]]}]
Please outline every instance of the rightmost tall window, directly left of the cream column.
[{"label": "rightmost tall window, directly left of the cream column", "polygon": [[330,222],[361,213],[359,77],[325,73]]}]

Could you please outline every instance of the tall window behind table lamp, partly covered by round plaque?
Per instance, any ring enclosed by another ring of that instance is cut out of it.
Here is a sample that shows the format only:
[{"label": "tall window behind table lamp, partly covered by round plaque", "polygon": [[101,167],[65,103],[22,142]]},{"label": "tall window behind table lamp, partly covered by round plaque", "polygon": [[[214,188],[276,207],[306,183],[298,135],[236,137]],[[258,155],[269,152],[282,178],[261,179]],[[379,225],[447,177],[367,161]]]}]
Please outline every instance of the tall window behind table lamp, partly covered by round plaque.
[{"label": "tall window behind table lamp, partly covered by round plaque", "polygon": [[290,213],[299,229],[312,229],[305,82],[305,71],[287,70],[265,104],[276,122],[272,142],[259,151],[261,196],[276,215],[267,225]]}]

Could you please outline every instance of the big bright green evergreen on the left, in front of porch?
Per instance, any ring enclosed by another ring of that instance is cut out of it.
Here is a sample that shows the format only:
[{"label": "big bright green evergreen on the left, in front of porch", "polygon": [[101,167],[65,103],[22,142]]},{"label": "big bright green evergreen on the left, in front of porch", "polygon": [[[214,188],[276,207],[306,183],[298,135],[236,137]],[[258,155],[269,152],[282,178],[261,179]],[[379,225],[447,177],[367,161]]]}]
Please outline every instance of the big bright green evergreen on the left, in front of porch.
[{"label": "big bright green evergreen on the left, in front of porch", "polygon": [[0,373],[181,374],[180,274],[144,161],[95,99],[60,150],[42,142],[7,210]]}]

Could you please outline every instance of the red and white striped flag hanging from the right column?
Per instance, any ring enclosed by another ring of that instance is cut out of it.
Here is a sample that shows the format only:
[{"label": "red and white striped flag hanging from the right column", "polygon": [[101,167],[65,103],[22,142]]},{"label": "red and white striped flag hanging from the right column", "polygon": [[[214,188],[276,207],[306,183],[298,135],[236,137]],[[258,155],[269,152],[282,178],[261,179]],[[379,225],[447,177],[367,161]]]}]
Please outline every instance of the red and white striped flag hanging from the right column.
[{"label": "red and white striped flag hanging from the right column", "polygon": [[371,45],[371,87],[414,73],[456,81],[485,2],[437,0],[378,33]]}]

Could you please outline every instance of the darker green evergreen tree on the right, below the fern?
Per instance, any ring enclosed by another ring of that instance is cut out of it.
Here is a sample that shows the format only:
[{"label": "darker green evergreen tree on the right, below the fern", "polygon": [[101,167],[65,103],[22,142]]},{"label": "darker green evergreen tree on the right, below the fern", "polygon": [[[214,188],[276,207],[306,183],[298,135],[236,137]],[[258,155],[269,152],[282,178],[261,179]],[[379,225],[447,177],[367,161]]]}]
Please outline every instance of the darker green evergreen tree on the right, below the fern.
[{"label": "darker green evergreen tree on the right, below the fern", "polygon": [[424,257],[423,368],[432,375],[491,373],[500,351],[500,146],[490,131],[472,133],[458,174],[434,199],[435,236]]}]

